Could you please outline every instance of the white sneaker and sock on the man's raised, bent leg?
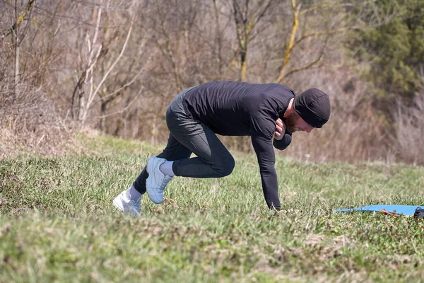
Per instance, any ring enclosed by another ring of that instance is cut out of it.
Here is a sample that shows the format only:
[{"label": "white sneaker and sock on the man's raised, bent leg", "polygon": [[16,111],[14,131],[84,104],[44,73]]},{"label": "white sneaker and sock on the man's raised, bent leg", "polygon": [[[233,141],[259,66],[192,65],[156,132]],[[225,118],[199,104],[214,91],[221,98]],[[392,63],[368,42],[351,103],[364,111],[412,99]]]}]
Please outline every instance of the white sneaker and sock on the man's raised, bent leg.
[{"label": "white sneaker and sock on the man's raised, bent leg", "polygon": [[151,157],[147,161],[148,178],[146,180],[146,190],[148,197],[155,204],[163,202],[163,191],[167,183],[172,180],[171,176],[160,171],[160,166],[166,161],[165,158]]}]

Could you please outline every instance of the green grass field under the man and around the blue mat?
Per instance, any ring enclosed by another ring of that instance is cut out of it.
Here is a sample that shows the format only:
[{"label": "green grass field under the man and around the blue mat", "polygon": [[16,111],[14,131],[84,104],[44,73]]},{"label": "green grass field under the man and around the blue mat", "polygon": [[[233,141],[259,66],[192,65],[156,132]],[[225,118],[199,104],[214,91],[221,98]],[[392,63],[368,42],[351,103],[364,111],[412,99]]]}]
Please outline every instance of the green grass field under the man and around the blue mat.
[{"label": "green grass field under the man and around the blue mat", "polygon": [[98,137],[84,156],[0,161],[0,282],[423,282],[424,221],[335,213],[424,204],[424,168],[278,157],[281,213],[254,155],[232,175],[175,178],[165,202],[112,207],[161,147]]}]

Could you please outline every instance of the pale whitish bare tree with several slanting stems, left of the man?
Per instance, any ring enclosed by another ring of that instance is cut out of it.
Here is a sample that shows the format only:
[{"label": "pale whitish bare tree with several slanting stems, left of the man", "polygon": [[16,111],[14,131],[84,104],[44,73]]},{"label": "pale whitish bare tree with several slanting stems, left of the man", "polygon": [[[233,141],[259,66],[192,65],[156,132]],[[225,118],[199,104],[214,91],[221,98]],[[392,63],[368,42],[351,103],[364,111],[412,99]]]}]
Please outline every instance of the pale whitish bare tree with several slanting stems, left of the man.
[{"label": "pale whitish bare tree with several slanting stems, left of the man", "polygon": [[[112,74],[114,74],[115,78],[119,76],[119,71],[113,73],[114,68],[117,67],[117,64],[123,58],[135,20],[135,13],[133,13],[129,19],[129,28],[126,31],[119,53],[114,54],[113,59],[108,57],[108,55],[113,54],[110,51],[111,45],[119,40],[117,32],[109,33],[109,29],[106,26],[102,26],[102,17],[105,16],[104,13],[109,8],[109,4],[110,1],[105,6],[99,5],[93,9],[90,25],[88,25],[88,30],[85,33],[87,43],[86,45],[81,45],[82,49],[79,54],[83,67],[71,98],[71,115],[73,119],[78,120],[82,124],[87,122],[90,110],[99,101],[100,119],[102,120],[100,125],[102,127],[104,127],[105,117],[107,117],[105,113],[107,105],[121,96],[122,91],[131,86],[143,71],[143,69],[140,69],[131,79],[120,83],[120,86],[111,88],[106,86],[107,80],[110,79]],[[102,33],[101,38],[100,33]],[[102,74],[98,73],[101,69]]]}]

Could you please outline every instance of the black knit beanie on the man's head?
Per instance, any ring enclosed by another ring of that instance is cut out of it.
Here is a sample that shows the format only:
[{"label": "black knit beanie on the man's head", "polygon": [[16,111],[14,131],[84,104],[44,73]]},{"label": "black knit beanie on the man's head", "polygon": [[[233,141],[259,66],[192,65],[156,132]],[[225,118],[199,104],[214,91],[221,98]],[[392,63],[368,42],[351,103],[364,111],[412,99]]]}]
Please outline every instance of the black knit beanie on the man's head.
[{"label": "black knit beanie on the man's head", "polygon": [[310,88],[295,96],[293,108],[305,122],[320,128],[330,117],[330,98],[317,88]]}]

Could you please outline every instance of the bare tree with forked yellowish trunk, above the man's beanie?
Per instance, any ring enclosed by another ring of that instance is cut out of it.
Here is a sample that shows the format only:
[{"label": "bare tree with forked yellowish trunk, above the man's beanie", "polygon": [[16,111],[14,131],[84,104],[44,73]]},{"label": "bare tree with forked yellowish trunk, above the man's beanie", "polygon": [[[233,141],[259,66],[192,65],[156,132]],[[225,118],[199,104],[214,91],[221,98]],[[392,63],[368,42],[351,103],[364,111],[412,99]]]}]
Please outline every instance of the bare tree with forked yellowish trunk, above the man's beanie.
[{"label": "bare tree with forked yellowish trunk, above the man's beanie", "polygon": [[[292,24],[290,33],[283,45],[285,48],[283,59],[279,69],[276,83],[281,83],[283,79],[295,74],[298,71],[304,71],[317,67],[322,62],[326,54],[327,42],[336,34],[347,32],[348,30],[361,30],[385,24],[392,20],[394,11],[389,14],[382,14],[378,5],[375,6],[374,1],[357,1],[355,4],[348,1],[326,1],[319,4],[305,5],[304,0],[290,0]],[[355,16],[351,12],[353,6]],[[370,8],[372,9],[370,11]],[[366,21],[361,15],[367,15]],[[319,18],[324,23],[317,24],[310,18]],[[307,62],[302,62],[299,67],[290,66],[290,58],[295,50],[302,49],[302,43],[306,40],[314,40],[317,42],[318,50],[314,57]]]}]

